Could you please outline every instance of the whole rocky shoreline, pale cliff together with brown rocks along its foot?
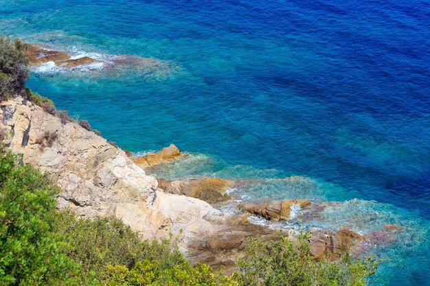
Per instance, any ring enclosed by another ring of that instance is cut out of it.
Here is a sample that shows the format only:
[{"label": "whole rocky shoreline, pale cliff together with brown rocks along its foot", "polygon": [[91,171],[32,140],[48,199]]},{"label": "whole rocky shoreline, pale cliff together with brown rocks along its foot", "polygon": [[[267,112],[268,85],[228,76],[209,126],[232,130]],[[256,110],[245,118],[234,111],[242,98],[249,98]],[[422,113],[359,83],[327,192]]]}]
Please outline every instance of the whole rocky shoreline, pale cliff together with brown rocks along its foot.
[{"label": "whole rocky shoreline, pale cliff together with brown rocks along its foot", "polygon": [[[7,134],[6,146],[23,154],[23,162],[49,174],[60,187],[58,208],[69,208],[86,219],[118,217],[143,239],[164,239],[173,234],[190,261],[205,262],[227,272],[234,269],[234,261],[241,256],[249,236],[270,241],[280,235],[275,228],[251,223],[250,215],[288,221],[293,212],[318,216],[331,203],[300,198],[249,202],[234,205],[239,213],[230,214],[216,208],[216,204],[230,201],[227,189],[240,181],[212,177],[169,181],[146,175],[149,166],[186,156],[174,145],[159,153],[131,157],[131,153],[112,146],[103,137],[75,122],[64,122],[21,97],[1,102],[0,123]],[[42,146],[46,134],[55,136],[51,144]],[[23,144],[25,136],[27,144]],[[396,225],[366,235],[348,228],[337,232],[313,228],[311,253],[317,259],[328,256],[335,261],[346,253],[361,254],[372,245],[392,243],[398,231],[401,228]],[[295,240],[293,232],[282,235]]]}]

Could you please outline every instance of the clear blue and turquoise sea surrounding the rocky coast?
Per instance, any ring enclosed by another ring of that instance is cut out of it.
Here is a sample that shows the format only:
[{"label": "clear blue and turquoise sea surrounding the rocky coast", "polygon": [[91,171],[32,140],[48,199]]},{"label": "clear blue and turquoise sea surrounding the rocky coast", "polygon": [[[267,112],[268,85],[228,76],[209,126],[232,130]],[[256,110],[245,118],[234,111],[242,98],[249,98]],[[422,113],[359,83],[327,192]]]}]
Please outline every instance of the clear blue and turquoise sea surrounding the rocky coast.
[{"label": "clear blue and turquoise sea surrounding the rocky coast", "polygon": [[[342,201],[306,226],[405,226],[376,285],[428,285],[427,1],[4,1],[0,32],[73,54],[152,58],[112,72],[34,69],[30,88],[152,170],[257,179],[245,199]],[[304,177],[291,186],[285,177]]]}]

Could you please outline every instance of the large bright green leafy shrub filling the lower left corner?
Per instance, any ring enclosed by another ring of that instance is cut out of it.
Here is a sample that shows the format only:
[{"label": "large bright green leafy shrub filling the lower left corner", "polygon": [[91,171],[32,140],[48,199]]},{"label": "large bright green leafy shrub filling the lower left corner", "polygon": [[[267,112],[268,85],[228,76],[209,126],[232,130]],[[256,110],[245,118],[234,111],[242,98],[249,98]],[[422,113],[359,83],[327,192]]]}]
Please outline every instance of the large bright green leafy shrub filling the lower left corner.
[{"label": "large bright green leafy shrub filling the lower left corner", "polygon": [[79,265],[61,251],[69,245],[52,232],[58,190],[19,162],[0,147],[0,285],[71,283]]}]

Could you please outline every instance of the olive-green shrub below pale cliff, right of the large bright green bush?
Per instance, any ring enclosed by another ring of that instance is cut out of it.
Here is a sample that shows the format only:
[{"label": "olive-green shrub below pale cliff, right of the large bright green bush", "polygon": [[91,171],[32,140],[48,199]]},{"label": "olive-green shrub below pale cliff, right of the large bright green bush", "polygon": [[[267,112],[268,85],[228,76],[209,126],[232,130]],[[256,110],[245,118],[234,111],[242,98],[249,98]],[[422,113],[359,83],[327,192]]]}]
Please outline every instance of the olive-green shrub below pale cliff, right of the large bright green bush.
[{"label": "olive-green shrub below pale cliff, right of the large bright green bush", "polygon": [[69,257],[82,263],[82,271],[100,274],[107,265],[135,267],[138,261],[161,261],[163,268],[185,262],[175,243],[144,241],[120,219],[76,219],[69,211],[56,214],[55,231],[67,237]]}]

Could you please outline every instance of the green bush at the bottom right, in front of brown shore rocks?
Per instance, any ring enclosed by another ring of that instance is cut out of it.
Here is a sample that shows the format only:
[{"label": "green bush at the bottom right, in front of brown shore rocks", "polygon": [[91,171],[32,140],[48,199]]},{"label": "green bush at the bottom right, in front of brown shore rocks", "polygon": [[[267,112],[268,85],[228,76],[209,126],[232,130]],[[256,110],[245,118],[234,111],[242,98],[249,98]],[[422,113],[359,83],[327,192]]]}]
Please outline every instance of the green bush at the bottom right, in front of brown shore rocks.
[{"label": "green bush at the bottom right, in front of brown shore rocks", "polygon": [[302,233],[297,243],[280,236],[269,244],[253,239],[238,261],[240,272],[235,279],[240,285],[366,285],[367,277],[374,274],[377,263],[372,259],[316,261],[310,256],[309,234]]}]

